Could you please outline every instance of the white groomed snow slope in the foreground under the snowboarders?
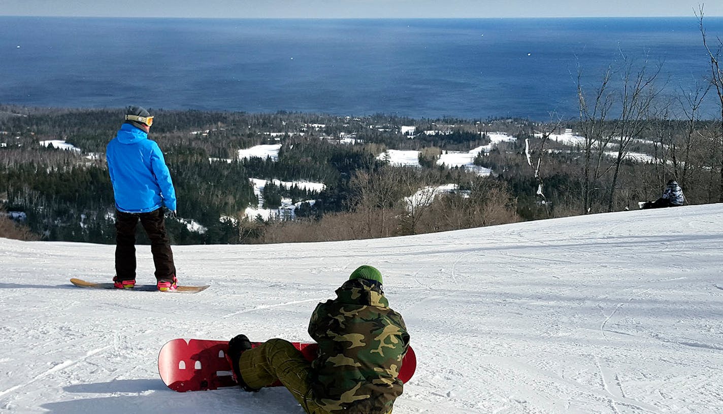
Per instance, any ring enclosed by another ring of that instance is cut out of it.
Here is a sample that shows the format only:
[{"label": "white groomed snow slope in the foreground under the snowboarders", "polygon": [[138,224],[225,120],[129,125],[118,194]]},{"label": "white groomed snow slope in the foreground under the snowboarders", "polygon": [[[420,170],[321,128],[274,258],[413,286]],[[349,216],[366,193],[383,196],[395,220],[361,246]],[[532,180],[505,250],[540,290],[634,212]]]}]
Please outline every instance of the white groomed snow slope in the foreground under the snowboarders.
[{"label": "white groomed snow slope in the foreground under the snowboarders", "polygon": [[[359,264],[419,361],[395,414],[723,413],[723,204],[421,236],[175,246],[194,295],[81,290],[114,246],[0,238],[0,413],[301,414],[283,388],[176,393],[175,337],[307,341]],[[147,246],[138,280],[153,282]]]}]

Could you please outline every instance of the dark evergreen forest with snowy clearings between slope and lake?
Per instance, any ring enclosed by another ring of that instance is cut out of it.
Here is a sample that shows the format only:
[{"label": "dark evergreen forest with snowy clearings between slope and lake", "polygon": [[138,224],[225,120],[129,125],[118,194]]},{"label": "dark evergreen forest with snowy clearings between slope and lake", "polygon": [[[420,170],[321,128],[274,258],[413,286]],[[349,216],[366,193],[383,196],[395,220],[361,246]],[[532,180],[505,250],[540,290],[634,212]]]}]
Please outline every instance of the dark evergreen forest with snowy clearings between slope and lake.
[{"label": "dark evergreen forest with snowy clearings between slope and lake", "polygon": [[[174,244],[403,236],[616,212],[656,199],[671,178],[688,204],[723,197],[720,123],[695,116],[541,123],[149,111],[149,138],[161,147],[176,188],[179,217],[166,219]],[[0,105],[0,236],[114,243],[105,148],[123,115],[124,108]],[[577,142],[558,139],[570,133]],[[513,139],[490,145],[490,134]],[[278,158],[239,157],[256,145],[280,145]],[[489,174],[438,162],[481,146],[489,150],[474,165]],[[418,151],[418,165],[395,165],[389,150]],[[249,178],[267,181],[260,194]],[[451,190],[434,190],[442,186]],[[247,214],[249,207],[278,208],[282,199],[295,204],[293,215]],[[138,239],[147,242],[140,226]]]}]

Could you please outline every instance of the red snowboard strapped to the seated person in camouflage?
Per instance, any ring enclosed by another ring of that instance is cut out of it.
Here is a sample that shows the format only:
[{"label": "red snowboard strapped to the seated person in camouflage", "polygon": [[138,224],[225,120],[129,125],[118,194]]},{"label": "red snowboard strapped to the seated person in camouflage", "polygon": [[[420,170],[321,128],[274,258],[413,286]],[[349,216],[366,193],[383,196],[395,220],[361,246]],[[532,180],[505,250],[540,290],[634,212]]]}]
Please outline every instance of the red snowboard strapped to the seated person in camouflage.
[{"label": "red snowboard strapped to the seated person in camouflage", "polygon": [[[253,342],[254,348],[261,342]],[[316,357],[317,344],[292,342],[296,349],[301,350],[309,361]],[[231,366],[226,360],[228,341],[214,340],[185,340],[182,338],[170,340],[163,345],[158,353],[158,374],[168,386],[178,392],[202,391],[221,387],[237,386],[232,376]],[[409,347],[399,379],[403,382],[411,379],[416,369],[416,356]],[[272,387],[281,385],[273,384]]]}]

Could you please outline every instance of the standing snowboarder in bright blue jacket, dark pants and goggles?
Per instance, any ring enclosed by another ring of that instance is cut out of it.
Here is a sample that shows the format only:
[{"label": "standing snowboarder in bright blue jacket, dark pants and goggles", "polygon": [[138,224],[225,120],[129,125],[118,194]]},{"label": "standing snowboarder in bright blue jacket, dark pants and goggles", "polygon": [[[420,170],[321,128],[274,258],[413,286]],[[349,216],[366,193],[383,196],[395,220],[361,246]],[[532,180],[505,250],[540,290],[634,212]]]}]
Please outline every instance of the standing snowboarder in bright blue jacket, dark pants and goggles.
[{"label": "standing snowboarder in bright blue jacket, dark pants and goggles", "polygon": [[140,220],[150,239],[158,290],[176,289],[176,266],[166,235],[163,206],[176,215],[176,191],[158,145],[148,139],[153,116],[129,106],[125,123],[106,148],[116,199],[116,288],[133,288],[136,277],[135,232]]}]

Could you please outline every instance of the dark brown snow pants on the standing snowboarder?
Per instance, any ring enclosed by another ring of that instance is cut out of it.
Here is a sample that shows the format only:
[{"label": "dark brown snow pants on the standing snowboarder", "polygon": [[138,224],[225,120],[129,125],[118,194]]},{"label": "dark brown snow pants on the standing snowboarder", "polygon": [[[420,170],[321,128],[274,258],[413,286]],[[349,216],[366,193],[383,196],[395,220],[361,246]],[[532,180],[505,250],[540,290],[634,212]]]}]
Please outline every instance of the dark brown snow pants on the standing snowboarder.
[{"label": "dark brown snow pants on the standing snowboarder", "polygon": [[116,210],[116,280],[134,280],[136,271],[135,231],[138,221],[150,239],[156,280],[176,275],[174,252],[166,234],[163,207],[152,212],[129,213]]}]

